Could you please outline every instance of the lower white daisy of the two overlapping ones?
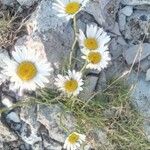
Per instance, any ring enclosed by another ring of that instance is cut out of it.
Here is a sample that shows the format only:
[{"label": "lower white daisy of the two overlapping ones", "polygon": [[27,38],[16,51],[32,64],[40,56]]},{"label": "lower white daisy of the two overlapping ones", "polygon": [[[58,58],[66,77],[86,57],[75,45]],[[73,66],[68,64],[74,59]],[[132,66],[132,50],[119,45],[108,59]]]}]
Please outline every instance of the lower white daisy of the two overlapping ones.
[{"label": "lower white daisy of the two overlapping ones", "polygon": [[84,51],[83,54],[82,58],[88,62],[86,68],[89,69],[101,71],[108,66],[111,60],[109,52],[104,50]]}]

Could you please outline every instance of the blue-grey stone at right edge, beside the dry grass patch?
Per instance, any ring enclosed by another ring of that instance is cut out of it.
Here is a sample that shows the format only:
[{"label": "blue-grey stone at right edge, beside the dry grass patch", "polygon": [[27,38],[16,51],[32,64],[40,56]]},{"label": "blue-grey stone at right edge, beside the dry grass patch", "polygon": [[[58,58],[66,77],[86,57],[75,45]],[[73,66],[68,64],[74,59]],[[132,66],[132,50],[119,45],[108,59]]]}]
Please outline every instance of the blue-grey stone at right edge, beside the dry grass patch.
[{"label": "blue-grey stone at right edge, beside the dry grass patch", "polygon": [[150,83],[145,81],[145,75],[131,72],[128,83],[133,87],[132,102],[145,118],[150,117]]}]

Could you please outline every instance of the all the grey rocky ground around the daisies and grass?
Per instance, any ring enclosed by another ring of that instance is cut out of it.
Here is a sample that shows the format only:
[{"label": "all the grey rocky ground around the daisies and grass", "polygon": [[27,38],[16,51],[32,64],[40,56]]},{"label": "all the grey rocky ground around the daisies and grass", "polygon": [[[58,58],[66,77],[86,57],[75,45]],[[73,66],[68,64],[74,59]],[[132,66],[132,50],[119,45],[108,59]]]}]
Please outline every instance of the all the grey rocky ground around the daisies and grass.
[{"label": "all the grey rocky ground around the daisies and grass", "polygon": [[[73,42],[73,29],[72,21],[66,22],[55,15],[52,2],[52,0],[2,1],[9,6],[17,3],[27,10],[37,4],[26,22],[28,34],[20,37],[14,47],[29,46],[40,51],[42,57],[47,57],[54,67],[48,86],[55,88],[54,77],[69,55]],[[106,87],[107,79],[122,76],[132,67],[129,83],[135,85],[132,94],[133,103],[147,120],[150,117],[150,1],[90,1],[85,10],[77,16],[79,28],[84,30],[88,23],[103,27],[111,36],[112,63],[102,73],[91,71],[87,74],[86,87],[81,97],[89,99],[93,91]],[[0,52],[0,55],[4,55],[4,50],[0,49]],[[0,67],[1,65],[3,65],[2,59],[0,59]],[[4,83],[7,79],[5,78],[0,76],[0,84]],[[18,97],[12,91],[6,91],[8,89],[0,92],[1,105],[10,108]],[[21,150],[61,150],[67,136],[64,125],[67,125],[71,132],[76,124],[71,114],[65,114],[65,118],[62,114],[62,108],[57,105],[23,107],[21,110],[15,109],[3,114],[4,123],[0,122],[0,148],[2,150],[16,147]],[[144,122],[144,127],[149,139],[148,121]],[[105,143],[104,145],[109,147],[105,133],[96,131],[95,134],[99,143]],[[87,145],[87,150],[90,147]]]}]

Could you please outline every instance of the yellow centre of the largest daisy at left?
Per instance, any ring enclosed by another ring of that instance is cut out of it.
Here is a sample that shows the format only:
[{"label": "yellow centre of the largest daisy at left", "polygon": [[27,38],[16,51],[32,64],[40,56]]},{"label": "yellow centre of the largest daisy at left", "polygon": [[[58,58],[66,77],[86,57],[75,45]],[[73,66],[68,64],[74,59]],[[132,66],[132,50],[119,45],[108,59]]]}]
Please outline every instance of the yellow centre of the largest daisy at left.
[{"label": "yellow centre of the largest daisy at left", "polygon": [[17,67],[17,75],[23,81],[29,81],[33,79],[37,74],[36,66],[29,61],[23,61]]}]

